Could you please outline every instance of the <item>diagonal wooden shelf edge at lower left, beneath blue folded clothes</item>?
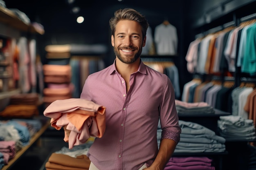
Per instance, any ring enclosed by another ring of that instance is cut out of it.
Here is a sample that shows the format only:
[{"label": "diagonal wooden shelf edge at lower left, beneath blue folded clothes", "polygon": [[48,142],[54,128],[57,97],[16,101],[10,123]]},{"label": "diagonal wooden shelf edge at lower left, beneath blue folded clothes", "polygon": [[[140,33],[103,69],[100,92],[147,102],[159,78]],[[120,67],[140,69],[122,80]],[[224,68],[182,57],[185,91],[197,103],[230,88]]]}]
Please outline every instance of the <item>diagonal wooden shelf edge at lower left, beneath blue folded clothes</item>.
[{"label": "diagonal wooden shelf edge at lower left, beneath blue folded clothes", "polygon": [[50,122],[47,122],[36,134],[31,137],[29,144],[24,146],[21,150],[16,152],[16,155],[13,159],[9,160],[8,164],[5,165],[1,170],[8,170],[30,147],[34,144],[37,139],[45,132],[45,130],[50,126]]}]

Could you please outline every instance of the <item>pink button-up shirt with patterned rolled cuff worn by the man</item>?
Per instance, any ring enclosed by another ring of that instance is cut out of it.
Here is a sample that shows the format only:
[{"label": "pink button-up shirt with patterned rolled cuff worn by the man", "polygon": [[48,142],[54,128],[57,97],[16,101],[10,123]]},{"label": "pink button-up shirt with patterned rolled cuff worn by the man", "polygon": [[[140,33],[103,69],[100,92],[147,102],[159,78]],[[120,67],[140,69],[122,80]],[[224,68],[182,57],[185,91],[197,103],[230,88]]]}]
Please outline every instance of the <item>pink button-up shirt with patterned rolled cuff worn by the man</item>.
[{"label": "pink button-up shirt with patterned rolled cuff worn by the man", "polygon": [[160,118],[162,138],[180,140],[175,93],[170,79],[141,62],[130,75],[130,90],[115,62],[88,76],[81,98],[106,106],[106,130],[96,138],[88,157],[100,170],[138,170],[151,165],[157,146]]}]

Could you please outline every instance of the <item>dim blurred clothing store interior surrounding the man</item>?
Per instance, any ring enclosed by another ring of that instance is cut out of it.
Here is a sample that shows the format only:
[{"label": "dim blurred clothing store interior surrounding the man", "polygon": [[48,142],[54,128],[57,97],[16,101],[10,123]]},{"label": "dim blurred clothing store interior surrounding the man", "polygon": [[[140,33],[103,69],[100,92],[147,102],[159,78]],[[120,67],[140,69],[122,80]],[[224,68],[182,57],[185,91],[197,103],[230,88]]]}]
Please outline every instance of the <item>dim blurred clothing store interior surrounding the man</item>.
[{"label": "dim blurred clothing store interior surrounding the man", "polygon": [[87,77],[113,64],[109,20],[124,8],[146,16],[140,59],[171,79],[186,128],[164,170],[256,170],[255,7],[256,0],[0,0],[0,170],[88,170],[95,137],[69,148],[45,109],[79,98]]}]

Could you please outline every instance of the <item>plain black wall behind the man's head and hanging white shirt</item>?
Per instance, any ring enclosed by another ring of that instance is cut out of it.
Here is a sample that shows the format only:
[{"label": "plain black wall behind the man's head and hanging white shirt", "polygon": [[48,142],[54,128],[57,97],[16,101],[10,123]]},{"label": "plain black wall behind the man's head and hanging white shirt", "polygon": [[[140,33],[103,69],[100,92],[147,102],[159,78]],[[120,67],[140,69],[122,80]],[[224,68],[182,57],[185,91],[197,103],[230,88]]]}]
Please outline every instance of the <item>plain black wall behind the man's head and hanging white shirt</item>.
[{"label": "plain black wall behind the man's head and hanging white shirt", "polygon": [[[45,34],[37,36],[40,55],[44,56],[44,47],[49,44],[107,44],[110,46],[109,19],[114,11],[131,7],[146,15],[151,28],[161,24],[164,18],[177,27],[180,38],[179,51],[182,51],[182,15],[183,6],[180,0],[75,0],[68,4],[67,0],[8,0],[7,8],[17,8],[26,13],[32,22],[41,23]],[[79,13],[72,13],[72,7],[80,7]],[[85,21],[76,23],[76,17],[82,15]],[[181,52],[179,52],[181,53]],[[113,53],[109,54],[113,55]],[[106,60],[112,64],[114,56]]]}]

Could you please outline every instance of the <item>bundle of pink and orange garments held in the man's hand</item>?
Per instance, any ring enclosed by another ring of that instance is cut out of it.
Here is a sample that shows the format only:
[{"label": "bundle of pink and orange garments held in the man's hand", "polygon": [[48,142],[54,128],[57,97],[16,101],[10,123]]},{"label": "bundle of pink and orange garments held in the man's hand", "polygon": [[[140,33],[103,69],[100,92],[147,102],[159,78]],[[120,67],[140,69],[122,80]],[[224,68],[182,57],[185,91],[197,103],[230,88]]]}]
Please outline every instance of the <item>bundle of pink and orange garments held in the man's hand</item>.
[{"label": "bundle of pink and orange garments held in the man's hand", "polygon": [[46,117],[51,118],[51,126],[60,130],[67,125],[69,137],[65,132],[64,141],[72,149],[76,145],[84,144],[90,136],[102,137],[105,129],[106,107],[94,102],[70,98],[52,102],[44,111]]}]

